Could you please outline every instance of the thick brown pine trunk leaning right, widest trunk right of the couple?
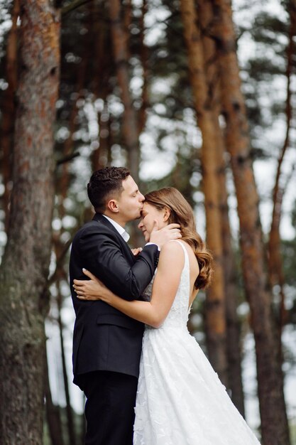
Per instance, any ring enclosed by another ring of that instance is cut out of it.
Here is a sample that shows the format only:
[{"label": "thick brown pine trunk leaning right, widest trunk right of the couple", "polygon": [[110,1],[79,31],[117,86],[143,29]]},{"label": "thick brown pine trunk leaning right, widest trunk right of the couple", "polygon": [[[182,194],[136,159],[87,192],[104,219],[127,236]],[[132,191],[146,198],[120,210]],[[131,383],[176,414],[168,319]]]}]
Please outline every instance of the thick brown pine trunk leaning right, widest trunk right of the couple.
[{"label": "thick brown pine trunk leaning right, widest trunk right of the couple", "polygon": [[231,1],[212,0],[214,21],[209,30],[219,51],[221,100],[226,120],[226,144],[231,155],[241,228],[241,252],[246,296],[256,343],[258,395],[263,444],[290,444],[278,363],[270,294],[266,291],[265,255],[253,176],[246,109],[241,93]]}]

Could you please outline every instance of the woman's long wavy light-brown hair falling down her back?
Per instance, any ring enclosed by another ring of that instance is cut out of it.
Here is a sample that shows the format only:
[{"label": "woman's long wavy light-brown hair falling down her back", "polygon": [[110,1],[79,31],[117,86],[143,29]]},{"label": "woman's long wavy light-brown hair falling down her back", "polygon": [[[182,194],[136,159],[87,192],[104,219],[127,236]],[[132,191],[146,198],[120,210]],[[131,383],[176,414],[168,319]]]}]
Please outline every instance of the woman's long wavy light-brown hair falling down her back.
[{"label": "woman's long wavy light-brown hair falling down her back", "polygon": [[181,239],[192,247],[197,257],[199,275],[194,283],[195,288],[204,289],[209,286],[213,272],[213,257],[197,233],[193,210],[182,193],[174,187],[160,188],[160,190],[147,193],[145,202],[158,210],[163,210],[163,208],[170,210],[168,224],[180,224]]}]

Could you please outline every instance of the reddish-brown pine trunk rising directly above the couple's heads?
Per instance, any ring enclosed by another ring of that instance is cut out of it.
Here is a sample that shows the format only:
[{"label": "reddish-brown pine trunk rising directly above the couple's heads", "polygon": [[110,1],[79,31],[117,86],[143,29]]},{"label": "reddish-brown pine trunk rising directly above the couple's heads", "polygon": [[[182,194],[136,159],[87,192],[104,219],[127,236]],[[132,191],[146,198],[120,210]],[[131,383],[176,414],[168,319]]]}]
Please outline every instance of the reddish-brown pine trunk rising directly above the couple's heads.
[{"label": "reddish-brown pine trunk rising directly above the couple's heads", "polygon": [[138,168],[140,164],[138,123],[131,92],[129,91],[128,35],[121,19],[121,2],[119,0],[109,1],[109,14],[117,81],[120,88],[121,100],[124,104],[122,132],[128,152],[128,167],[131,170],[131,175],[134,180],[138,183]]}]

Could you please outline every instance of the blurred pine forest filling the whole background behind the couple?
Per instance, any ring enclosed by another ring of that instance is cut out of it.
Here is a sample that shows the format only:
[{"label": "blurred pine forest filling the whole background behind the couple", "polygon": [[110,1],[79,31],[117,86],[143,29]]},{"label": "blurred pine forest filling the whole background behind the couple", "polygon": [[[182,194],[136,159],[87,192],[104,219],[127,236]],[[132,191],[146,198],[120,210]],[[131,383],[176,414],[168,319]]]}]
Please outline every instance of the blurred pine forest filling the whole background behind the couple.
[{"label": "blurred pine forest filling the whole background behind the couple", "polygon": [[110,165],[194,208],[190,333],[261,444],[296,445],[295,124],[296,0],[0,0],[1,445],[84,443],[69,255]]}]

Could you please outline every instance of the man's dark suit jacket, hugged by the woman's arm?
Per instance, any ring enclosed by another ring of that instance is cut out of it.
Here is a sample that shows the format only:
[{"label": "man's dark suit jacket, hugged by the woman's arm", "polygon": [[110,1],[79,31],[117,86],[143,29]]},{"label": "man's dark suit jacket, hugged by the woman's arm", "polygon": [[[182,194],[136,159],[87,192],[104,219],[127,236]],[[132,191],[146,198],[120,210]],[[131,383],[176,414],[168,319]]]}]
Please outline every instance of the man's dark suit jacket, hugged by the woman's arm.
[{"label": "man's dark suit jacket, hugged by the woman's arm", "polygon": [[104,301],[81,301],[73,279],[86,279],[82,267],[126,300],[138,299],[153,277],[158,247],[148,245],[134,257],[119,232],[96,213],[78,230],[72,242],[70,285],[76,313],[73,334],[74,382],[96,370],[122,372],[138,377],[143,323],[124,315]]}]

